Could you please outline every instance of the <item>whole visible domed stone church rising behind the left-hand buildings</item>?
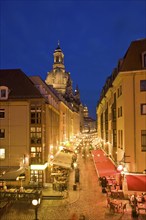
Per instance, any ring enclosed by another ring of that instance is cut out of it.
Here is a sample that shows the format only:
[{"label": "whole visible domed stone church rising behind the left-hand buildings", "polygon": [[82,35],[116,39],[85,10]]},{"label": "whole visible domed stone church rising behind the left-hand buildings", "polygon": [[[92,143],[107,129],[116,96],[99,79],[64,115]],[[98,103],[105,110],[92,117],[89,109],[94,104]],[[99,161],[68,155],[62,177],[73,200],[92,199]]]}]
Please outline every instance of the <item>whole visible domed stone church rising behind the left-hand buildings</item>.
[{"label": "whole visible domed stone church rising behind the left-hand buildings", "polygon": [[76,86],[75,91],[73,91],[72,80],[70,73],[65,70],[64,65],[64,54],[58,46],[54,51],[54,63],[53,68],[47,73],[46,84],[52,85],[58,93],[60,93],[63,98],[72,105],[74,111],[80,111],[80,92],[78,86]]}]

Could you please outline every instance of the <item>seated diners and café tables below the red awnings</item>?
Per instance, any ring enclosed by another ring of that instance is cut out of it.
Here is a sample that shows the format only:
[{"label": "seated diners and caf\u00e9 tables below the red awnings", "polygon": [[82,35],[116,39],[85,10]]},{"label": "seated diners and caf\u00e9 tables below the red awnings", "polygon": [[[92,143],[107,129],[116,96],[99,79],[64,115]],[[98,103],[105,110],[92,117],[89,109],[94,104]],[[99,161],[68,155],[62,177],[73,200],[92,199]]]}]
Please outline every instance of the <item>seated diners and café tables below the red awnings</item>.
[{"label": "seated diners and caf\u00e9 tables below the red awnings", "polygon": [[106,193],[107,207],[110,212],[124,213],[127,211],[127,206],[129,206],[133,217],[141,213],[146,215],[146,192],[128,194],[127,199],[115,176],[99,177],[99,183],[102,193]]}]

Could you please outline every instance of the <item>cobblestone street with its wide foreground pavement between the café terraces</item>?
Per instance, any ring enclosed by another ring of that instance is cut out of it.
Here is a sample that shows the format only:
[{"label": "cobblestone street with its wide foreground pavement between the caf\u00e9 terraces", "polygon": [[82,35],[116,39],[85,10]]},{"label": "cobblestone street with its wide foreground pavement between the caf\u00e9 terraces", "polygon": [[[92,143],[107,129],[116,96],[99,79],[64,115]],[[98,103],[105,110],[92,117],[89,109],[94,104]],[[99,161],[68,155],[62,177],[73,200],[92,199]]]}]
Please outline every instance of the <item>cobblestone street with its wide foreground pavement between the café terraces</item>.
[{"label": "cobblestone street with its wide foreground pavement between the caf\u00e9 terraces", "polygon": [[[86,161],[79,157],[80,184],[76,191],[70,185],[68,199],[42,200],[38,209],[39,220],[78,220],[83,214],[86,220],[131,220],[131,212],[110,213],[106,204],[106,194],[101,193],[97,174],[91,157]],[[72,177],[74,179],[74,171]],[[71,183],[73,183],[73,179]],[[74,200],[72,197],[74,196]],[[32,205],[15,203],[1,217],[1,220],[33,220],[35,212]],[[144,216],[137,219],[142,220]]]}]

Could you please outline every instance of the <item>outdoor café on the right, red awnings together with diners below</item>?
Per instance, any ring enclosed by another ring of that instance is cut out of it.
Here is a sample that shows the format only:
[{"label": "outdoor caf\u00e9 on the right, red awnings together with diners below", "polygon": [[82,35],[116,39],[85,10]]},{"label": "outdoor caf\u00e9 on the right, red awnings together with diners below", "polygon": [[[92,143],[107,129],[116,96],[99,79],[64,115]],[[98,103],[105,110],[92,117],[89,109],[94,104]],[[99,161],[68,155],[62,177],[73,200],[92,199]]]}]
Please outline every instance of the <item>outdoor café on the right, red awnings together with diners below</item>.
[{"label": "outdoor caf\u00e9 on the right, red awnings together with diners below", "polygon": [[[127,173],[123,177],[101,149],[93,150],[92,157],[110,212],[124,213],[128,207],[132,216],[146,215],[146,175]],[[123,178],[127,183],[128,197],[123,192]]]}]

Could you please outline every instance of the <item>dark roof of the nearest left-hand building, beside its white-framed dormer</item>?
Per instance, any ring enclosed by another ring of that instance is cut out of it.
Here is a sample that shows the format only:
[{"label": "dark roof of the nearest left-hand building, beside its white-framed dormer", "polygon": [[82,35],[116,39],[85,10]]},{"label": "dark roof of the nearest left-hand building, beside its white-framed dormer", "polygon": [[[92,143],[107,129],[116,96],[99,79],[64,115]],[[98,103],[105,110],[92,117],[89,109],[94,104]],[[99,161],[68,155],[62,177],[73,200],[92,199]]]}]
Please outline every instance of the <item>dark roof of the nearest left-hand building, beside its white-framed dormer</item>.
[{"label": "dark roof of the nearest left-hand building, beside its white-framed dormer", "polygon": [[9,89],[9,99],[42,98],[33,82],[21,69],[1,69],[0,86]]}]

